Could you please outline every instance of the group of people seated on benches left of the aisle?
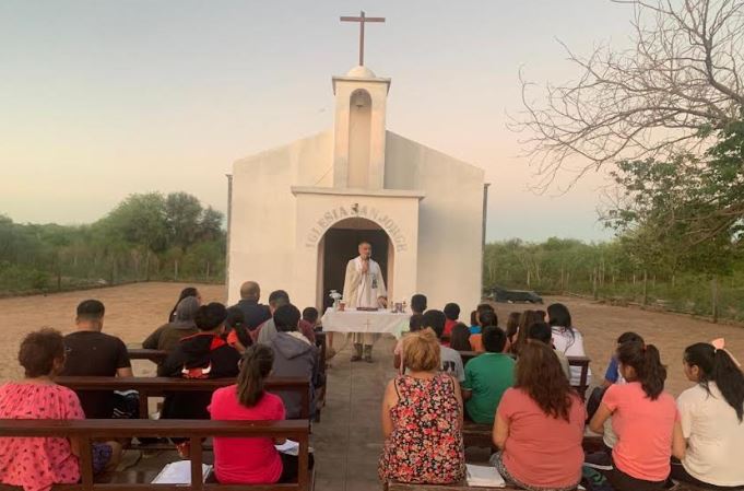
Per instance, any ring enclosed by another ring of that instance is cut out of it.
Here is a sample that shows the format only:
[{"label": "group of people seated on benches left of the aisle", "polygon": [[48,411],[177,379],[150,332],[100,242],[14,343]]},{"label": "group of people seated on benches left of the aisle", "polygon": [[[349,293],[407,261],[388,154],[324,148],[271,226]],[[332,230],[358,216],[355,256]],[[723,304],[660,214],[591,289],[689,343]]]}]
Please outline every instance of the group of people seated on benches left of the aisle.
[{"label": "group of people seated on benches left of the aisle", "polygon": [[[236,378],[234,385],[214,393],[166,394],[161,419],[215,419],[281,421],[299,419],[302,398],[296,393],[263,389],[274,376],[307,379],[310,416],[314,395],[321,383],[319,350],[315,346],[318,312],[310,307],[300,316],[282,290],[272,292],[269,305],[259,303],[260,288],[246,282],[241,300],[229,308],[202,304],[199,291],[185,289],[168,322],[147,336],[145,349],[166,353],[157,375],[184,378]],[[111,419],[135,418],[137,394],[73,391],[55,383],[61,375],[131,377],[128,349],[121,339],[103,332],[105,306],[86,300],[76,309],[75,329],[62,336],[45,328],[28,334],[21,343],[22,381],[0,386],[0,419]],[[173,439],[181,457],[189,456],[186,439]],[[214,474],[221,483],[296,482],[298,458],[279,453],[273,439],[214,439]],[[116,468],[121,442],[92,445],[94,474]],[[241,458],[250,454],[251,458]],[[237,457],[237,458],[236,458]],[[310,456],[311,458],[311,456]],[[81,479],[76,443],[60,437],[0,439],[0,483],[24,490],[48,490],[55,483]]]}]

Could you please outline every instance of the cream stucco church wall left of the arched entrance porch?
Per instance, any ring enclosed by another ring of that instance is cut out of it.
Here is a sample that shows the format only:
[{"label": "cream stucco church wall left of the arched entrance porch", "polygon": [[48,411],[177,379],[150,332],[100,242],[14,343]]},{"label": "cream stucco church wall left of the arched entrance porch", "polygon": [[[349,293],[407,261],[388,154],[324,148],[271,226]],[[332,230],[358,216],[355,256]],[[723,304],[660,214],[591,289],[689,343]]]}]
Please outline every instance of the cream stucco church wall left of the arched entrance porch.
[{"label": "cream stucco church wall left of the arched entrance porch", "polygon": [[[265,300],[291,289],[295,268],[294,185],[331,186],[333,136],[326,131],[237,161],[233,166],[228,302],[258,281]],[[292,292],[290,292],[292,293]]]}]

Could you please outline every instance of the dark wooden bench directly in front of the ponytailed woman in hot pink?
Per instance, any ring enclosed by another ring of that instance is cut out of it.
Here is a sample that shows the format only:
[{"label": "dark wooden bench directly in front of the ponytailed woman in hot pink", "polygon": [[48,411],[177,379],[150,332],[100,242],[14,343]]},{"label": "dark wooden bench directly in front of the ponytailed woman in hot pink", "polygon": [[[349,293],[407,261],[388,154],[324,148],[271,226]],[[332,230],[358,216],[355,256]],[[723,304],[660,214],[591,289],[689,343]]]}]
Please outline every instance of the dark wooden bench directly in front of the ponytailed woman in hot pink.
[{"label": "dark wooden bench directly in front of the ponytailed woman in hot pink", "polygon": [[[123,391],[137,390],[140,394],[141,419],[147,419],[147,399],[164,397],[166,393],[214,391],[220,387],[235,384],[235,378],[170,378],[170,377],[82,377],[60,376],[55,382],[72,390]],[[298,377],[269,377],[265,381],[269,391],[298,393],[302,398],[300,418],[310,417],[309,382]]]}]

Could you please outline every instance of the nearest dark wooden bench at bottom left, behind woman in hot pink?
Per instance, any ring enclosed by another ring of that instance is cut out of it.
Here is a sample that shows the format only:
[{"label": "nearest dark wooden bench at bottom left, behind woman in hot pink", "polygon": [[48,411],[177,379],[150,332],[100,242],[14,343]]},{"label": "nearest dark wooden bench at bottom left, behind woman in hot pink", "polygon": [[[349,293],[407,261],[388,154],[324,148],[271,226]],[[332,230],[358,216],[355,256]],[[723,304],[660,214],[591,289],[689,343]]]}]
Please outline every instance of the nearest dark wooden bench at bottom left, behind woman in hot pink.
[{"label": "nearest dark wooden bench at bottom left, behind woman in hot pink", "polygon": [[[8,420],[0,419],[0,437],[37,436],[76,440],[80,445],[81,476],[79,484],[56,484],[52,490],[153,490],[153,491],[310,491],[312,471],[309,468],[309,422],[295,421],[210,421],[210,420]],[[130,439],[132,436],[187,437],[191,445],[192,483],[152,484],[157,472],[106,472],[94,478],[91,442]],[[202,483],[202,440],[210,436],[292,439],[299,443],[297,483],[227,486]],[[0,490],[20,490],[0,484]]]}]

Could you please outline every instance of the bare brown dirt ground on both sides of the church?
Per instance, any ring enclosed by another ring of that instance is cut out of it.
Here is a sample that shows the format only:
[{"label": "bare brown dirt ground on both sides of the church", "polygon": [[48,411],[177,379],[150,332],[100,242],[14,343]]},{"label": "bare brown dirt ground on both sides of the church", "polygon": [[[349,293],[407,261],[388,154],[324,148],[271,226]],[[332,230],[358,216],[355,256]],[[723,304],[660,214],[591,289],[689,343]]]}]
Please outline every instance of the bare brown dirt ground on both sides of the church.
[{"label": "bare brown dirt ground on both sides of the church", "polygon": [[[74,328],[74,311],[85,299],[98,299],[106,305],[104,330],[119,336],[128,344],[137,344],[165,323],[178,293],[186,284],[139,283],[110,289],[0,300],[0,381],[19,377],[22,372],[15,360],[19,343],[25,332],[43,326],[62,332]],[[197,285],[204,301],[224,301],[222,285]],[[724,337],[729,349],[744,360],[744,328],[716,325],[688,316],[646,312],[630,307],[614,307],[574,297],[548,297],[565,303],[574,324],[584,336],[587,355],[592,359],[595,381],[601,379],[617,336],[634,330],[647,342],[657,344],[669,366],[668,389],[678,394],[689,386],[682,373],[682,352],[688,344]],[[496,304],[499,324],[505,325],[509,312],[532,308],[521,304]],[[470,308],[462,309],[468,319]],[[138,362],[140,375],[154,374],[154,365]]]}]

